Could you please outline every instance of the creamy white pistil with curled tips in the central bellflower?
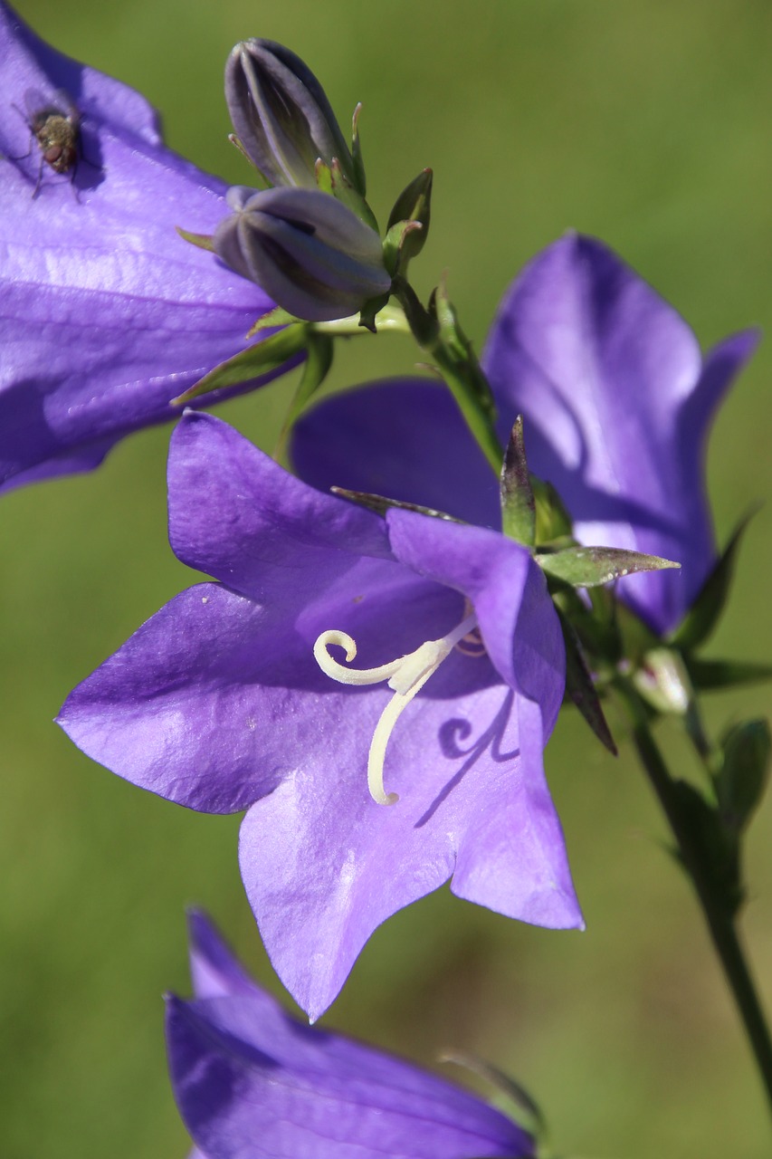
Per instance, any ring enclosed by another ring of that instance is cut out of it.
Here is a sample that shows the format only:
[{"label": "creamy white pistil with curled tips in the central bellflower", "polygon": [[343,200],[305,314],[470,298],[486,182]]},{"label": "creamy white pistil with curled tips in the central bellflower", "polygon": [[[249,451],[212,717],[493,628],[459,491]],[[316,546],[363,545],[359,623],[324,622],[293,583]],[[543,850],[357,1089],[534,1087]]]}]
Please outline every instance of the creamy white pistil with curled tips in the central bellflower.
[{"label": "creamy white pistil with curled tips in the central bellflower", "polygon": [[384,788],[384,759],[386,757],[386,745],[392,735],[392,729],[396,724],[400,714],[410,704],[413,698],[424,686],[429,677],[437,671],[446,656],[453,648],[464,640],[478,626],[478,618],[472,613],[466,619],[449,632],[440,640],[425,640],[415,651],[407,656],[400,656],[388,664],[380,664],[378,668],[347,668],[340,664],[329,654],[329,648],[335,644],[345,651],[347,663],[350,664],[357,655],[357,646],[354,639],[345,632],[332,628],[322,632],[314,644],[314,659],[319,664],[325,676],[337,680],[338,684],[380,684],[388,683],[388,687],[394,691],[394,695],[388,701],[380,720],[376,726],[376,731],[370,742],[367,753],[367,787],[370,795],[378,804],[396,804],[399,796],[396,793],[387,793]]}]

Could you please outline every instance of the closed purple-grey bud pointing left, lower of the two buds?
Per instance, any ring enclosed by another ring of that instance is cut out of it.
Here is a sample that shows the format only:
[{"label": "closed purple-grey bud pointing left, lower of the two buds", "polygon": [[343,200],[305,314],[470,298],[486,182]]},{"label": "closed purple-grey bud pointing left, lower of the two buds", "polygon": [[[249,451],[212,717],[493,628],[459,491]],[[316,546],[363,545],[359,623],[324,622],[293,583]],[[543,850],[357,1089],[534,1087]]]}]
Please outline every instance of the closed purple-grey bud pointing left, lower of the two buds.
[{"label": "closed purple-grey bud pointing left, lower of the two buds", "polygon": [[312,189],[236,187],[217,255],[296,318],[327,322],[388,293],[380,239],[334,197]]}]

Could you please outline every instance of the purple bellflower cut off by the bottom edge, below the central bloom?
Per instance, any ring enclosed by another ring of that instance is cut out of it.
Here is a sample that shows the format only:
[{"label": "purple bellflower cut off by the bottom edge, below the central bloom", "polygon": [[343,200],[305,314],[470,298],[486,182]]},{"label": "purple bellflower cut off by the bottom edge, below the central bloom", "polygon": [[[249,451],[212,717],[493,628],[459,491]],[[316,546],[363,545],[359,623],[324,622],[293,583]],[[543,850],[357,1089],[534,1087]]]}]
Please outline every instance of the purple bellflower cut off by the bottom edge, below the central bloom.
[{"label": "purple bellflower cut off by the bottom edge, below the central bloom", "polygon": [[300,1026],[201,913],[190,916],[190,941],[196,998],[168,999],[166,1034],[177,1106],[202,1159],[533,1156],[530,1135],[461,1087]]}]

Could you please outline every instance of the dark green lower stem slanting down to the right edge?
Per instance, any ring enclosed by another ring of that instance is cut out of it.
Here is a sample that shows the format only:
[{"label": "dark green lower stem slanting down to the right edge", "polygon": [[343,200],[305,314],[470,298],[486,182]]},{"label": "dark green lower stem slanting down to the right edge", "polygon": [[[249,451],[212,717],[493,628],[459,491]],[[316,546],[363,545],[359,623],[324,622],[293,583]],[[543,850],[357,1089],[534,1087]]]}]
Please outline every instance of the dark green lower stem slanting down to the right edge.
[{"label": "dark green lower stem slanting down to the right edge", "polygon": [[649,782],[662,806],[668,824],[676,839],[680,860],[686,868],[711,933],[724,977],[734,996],[745,1033],[756,1057],[756,1063],[766,1091],[772,1114],[772,1040],[766,1026],[762,1004],[745,961],[734,918],[721,904],[712,887],[709,867],[705,854],[685,823],[675,781],[668,771],[662,753],[651,735],[646,709],[638,693],[624,679],[614,681],[633,722],[633,739]]}]

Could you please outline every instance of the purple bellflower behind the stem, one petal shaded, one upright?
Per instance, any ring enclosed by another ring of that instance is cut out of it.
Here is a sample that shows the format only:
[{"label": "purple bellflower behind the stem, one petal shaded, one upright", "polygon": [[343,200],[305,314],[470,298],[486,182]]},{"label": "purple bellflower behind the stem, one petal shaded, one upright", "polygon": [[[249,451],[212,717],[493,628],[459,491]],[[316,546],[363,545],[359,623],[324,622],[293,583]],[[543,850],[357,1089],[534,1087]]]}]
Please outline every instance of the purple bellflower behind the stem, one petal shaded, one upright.
[{"label": "purple bellflower behind the stem, one petal shaded, one upright", "polygon": [[[751,355],[746,330],[702,358],[684,320],[610,249],[567,235],[507,292],[483,355],[505,442],[525,417],[529,466],[584,544],[677,560],[619,582],[658,632],[715,562],[704,458],[713,415]],[[347,392],[296,428],[301,478],[498,525],[498,488],[446,391],[425,379]]]}]

